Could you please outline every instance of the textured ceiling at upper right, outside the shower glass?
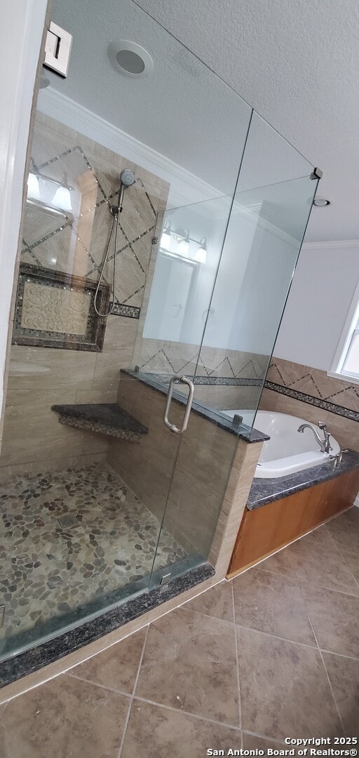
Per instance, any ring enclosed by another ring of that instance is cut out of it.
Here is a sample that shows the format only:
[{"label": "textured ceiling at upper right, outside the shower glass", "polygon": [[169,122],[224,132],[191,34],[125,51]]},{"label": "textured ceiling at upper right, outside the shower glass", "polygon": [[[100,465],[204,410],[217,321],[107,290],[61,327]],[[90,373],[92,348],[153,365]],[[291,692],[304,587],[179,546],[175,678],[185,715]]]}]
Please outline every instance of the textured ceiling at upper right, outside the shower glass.
[{"label": "textured ceiling at upper right, outside the shower glass", "polygon": [[324,172],[306,240],[359,239],[357,0],[139,0]]}]

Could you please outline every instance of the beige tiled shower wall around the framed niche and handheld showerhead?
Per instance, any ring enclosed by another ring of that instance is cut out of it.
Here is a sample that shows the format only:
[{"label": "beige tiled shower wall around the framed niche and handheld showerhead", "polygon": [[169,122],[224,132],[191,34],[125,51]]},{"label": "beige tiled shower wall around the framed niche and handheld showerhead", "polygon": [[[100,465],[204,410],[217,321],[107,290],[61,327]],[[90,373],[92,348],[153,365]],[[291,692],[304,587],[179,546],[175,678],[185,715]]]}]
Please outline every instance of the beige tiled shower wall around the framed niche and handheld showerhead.
[{"label": "beige tiled shower wall around the framed niche and handheld showerhead", "polygon": [[[126,196],[117,253],[117,312],[108,317],[102,352],[11,346],[0,468],[10,473],[83,465],[105,458],[108,439],[58,423],[54,404],[115,402],[120,368],[128,367],[136,339],[151,240],[168,185],[120,155],[37,114],[30,171],[76,188],[73,214],[56,218],[27,206],[20,260],[98,279],[111,230],[109,204],[124,166],[139,181]],[[105,277],[110,280],[110,271]]]}]

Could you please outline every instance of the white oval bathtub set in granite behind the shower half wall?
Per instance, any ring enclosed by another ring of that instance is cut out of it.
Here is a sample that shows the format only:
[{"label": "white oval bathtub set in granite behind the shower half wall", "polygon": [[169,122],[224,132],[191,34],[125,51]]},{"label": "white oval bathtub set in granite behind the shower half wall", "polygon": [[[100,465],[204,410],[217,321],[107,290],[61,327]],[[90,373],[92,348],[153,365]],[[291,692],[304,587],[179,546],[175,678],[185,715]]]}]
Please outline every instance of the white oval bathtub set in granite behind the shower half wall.
[{"label": "white oval bathtub set in granite behind the shower half wall", "polygon": [[[245,422],[245,411],[235,409],[225,410],[223,413],[231,418],[235,413],[242,415]],[[318,416],[320,416],[320,412]],[[330,437],[332,446],[330,453],[321,453],[310,429],[304,429],[303,434],[299,434],[298,427],[307,423],[309,422],[303,418],[289,416],[286,413],[258,411],[254,420],[254,428],[268,434],[270,440],[263,443],[255,477],[269,479],[286,476],[292,474],[293,471],[301,471],[303,468],[320,465],[320,463],[329,461],[329,456],[335,456],[336,453],[339,453],[340,446],[334,437]],[[320,431],[320,428],[316,424],[311,424],[311,426],[323,438],[323,432]]]}]

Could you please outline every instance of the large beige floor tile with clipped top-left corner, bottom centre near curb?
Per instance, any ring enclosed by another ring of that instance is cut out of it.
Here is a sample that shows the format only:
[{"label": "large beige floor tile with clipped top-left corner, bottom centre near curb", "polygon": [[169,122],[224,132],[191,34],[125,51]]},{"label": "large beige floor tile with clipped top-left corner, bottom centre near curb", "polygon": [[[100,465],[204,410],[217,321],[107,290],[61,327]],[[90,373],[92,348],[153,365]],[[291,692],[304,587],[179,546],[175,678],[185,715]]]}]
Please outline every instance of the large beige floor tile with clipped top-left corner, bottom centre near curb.
[{"label": "large beige floor tile with clipped top-left corner, bottom centre near curb", "polygon": [[239,726],[234,627],[181,609],[151,624],[136,695]]}]

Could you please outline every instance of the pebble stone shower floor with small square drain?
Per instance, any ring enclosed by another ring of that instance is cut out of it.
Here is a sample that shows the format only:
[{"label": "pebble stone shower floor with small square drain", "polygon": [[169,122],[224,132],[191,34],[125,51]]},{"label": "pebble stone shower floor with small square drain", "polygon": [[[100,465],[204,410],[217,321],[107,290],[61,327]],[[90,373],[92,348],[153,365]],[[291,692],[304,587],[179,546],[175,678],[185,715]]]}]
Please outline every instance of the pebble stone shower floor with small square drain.
[{"label": "pebble stone shower floor with small square drain", "polygon": [[[107,464],[13,477],[0,514],[2,654],[14,635],[23,644],[48,633],[151,572],[160,523]],[[163,531],[156,568],[185,556]]]}]

